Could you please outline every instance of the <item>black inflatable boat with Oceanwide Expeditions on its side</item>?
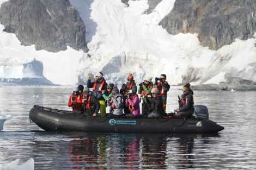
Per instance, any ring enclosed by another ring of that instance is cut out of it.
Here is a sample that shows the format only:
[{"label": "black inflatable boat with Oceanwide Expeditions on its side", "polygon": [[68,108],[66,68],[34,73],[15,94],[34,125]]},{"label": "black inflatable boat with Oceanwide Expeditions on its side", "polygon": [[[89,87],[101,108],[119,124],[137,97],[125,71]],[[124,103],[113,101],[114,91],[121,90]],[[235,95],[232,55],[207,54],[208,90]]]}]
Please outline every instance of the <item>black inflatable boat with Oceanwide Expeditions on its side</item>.
[{"label": "black inflatable boat with Oceanwide Expeditions on its side", "polygon": [[[200,105],[201,106],[201,105]],[[196,106],[195,106],[196,107]],[[205,118],[142,118],[142,117],[84,117],[71,111],[34,105],[29,118],[40,128],[49,131],[94,131],[108,133],[217,133],[224,128]],[[204,109],[205,110],[205,109]],[[208,110],[207,110],[208,111]]]}]

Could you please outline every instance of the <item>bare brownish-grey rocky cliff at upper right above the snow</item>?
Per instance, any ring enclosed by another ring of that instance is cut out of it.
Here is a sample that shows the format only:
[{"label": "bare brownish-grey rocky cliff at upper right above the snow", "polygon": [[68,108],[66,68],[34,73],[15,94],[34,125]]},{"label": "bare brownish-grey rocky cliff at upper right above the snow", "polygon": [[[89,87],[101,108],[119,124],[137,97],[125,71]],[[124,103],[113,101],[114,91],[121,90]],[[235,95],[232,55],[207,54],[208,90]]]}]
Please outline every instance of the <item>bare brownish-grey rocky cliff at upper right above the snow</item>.
[{"label": "bare brownish-grey rocky cliff at upper right above the snow", "polygon": [[160,22],[169,34],[198,33],[201,45],[217,50],[256,32],[255,0],[175,1]]}]

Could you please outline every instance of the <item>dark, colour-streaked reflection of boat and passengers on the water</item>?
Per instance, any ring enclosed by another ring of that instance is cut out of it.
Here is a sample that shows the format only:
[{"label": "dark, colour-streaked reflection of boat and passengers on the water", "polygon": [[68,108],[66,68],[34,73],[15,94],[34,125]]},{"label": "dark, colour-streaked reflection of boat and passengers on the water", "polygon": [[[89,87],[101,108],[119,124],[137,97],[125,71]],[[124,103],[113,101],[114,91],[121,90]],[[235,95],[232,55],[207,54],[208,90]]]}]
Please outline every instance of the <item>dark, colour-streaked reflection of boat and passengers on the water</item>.
[{"label": "dark, colour-streaked reflection of boat and passengers on the water", "polygon": [[106,166],[112,169],[169,169],[170,165],[172,169],[194,168],[194,141],[211,141],[210,138],[218,136],[193,133],[57,133],[76,136],[68,143],[71,169],[106,169]]}]

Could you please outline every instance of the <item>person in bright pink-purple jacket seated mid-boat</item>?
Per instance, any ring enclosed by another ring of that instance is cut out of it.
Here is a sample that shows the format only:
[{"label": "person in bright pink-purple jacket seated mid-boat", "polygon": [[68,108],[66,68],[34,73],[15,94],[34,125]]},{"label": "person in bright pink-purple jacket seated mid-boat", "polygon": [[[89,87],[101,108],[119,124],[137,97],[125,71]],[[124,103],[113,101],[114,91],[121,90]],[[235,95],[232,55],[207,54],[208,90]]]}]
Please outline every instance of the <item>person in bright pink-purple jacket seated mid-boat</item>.
[{"label": "person in bright pink-purple jacket seated mid-boat", "polygon": [[141,109],[139,107],[139,97],[136,92],[129,90],[125,99],[125,105],[128,106],[129,111],[131,112],[131,115],[128,114],[126,116],[136,117],[141,115]]}]

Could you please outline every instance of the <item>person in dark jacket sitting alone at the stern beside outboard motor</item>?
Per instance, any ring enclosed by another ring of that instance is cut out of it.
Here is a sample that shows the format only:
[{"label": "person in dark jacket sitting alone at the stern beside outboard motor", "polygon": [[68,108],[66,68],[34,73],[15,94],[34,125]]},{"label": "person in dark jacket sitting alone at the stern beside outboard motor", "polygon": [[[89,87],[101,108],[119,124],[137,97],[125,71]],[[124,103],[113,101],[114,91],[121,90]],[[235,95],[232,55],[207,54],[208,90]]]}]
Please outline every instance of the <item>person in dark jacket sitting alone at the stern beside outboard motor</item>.
[{"label": "person in dark jacket sitting alone at the stern beside outboard motor", "polygon": [[179,101],[180,106],[179,109],[175,111],[178,112],[176,117],[178,118],[190,118],[194,113],[194,98],[193,98],[193,91],[190,89],[190,84],[187,83],[182,88],[183,95],[181,95],[181,99]]}]

